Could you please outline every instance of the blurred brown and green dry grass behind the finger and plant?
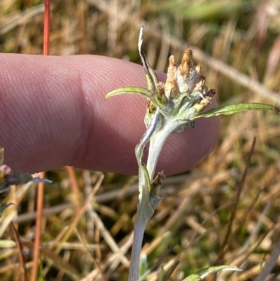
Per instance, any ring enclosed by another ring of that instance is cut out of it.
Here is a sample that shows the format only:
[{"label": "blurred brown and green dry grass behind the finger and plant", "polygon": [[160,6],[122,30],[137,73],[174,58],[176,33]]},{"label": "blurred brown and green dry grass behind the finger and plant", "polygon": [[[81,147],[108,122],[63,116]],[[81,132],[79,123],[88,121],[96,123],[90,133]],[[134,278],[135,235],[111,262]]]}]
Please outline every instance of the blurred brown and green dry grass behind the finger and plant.
[{"label": "blurred brown and green dry grass behind the finger and plant", "polygon": [[[158,71],[167,71],[169,55],[179,60],[192,48],[220,104],[280,106],[279,0],[53,0],[50,55],[140,63],[141,25],[148,61]],[[42,54],[42,1],[0,0],[0,52]],[[148,280],[165,280],[161,276],[172,272],[168,280],[182,280],[220,263],[244,272],[208,280],[255,280],[260,274],[279,247],[279,121],[270,112],[223,117],[214,151],[190,172],[166,179],[164,200],[144,238]],[[137,177],[70,168],[47,177],[55,184],[45,188],[41,280],[127,280]],[[13,186],[8,202],[15,206],[0,224],[7,240],[13,239],[8,224],[15,222],[27,268],[35,231],[33,185]],[[0,264],[0,280],[20,280],[16,247],[3,243]],[[280,280],[279,273],[280,260],[267,280]]]}]

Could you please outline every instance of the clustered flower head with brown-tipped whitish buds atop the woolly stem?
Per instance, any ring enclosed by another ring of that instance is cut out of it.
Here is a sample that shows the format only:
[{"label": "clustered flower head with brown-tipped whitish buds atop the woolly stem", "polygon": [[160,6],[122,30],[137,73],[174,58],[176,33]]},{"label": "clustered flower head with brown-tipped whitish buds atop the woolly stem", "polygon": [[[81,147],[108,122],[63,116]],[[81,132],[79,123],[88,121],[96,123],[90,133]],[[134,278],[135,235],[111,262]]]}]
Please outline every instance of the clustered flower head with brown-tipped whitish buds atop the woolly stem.
[{"label": "clustered flower head with brown-tipped whitish buds atop the woolly stem", "polygon": [[[156,76],[146,62],[144,53],[140,53],[142,62],[145,62],[144,67],[147,66],[145,67],[145,71],[148,73],[148,75],[146,74],[147,79]],[[157,79],[148,81],[148,85],[151,86],[148,89],[150,92],[145,118],[147,126],[159,107],[160,114],[164,118],[173,118],[178,121],[178,130],[175,132],[183,130],[186,126],[193,128],[194,123],[191,121],[207,107],[215,95],[215,90],[208,90],[205,85],[206,78],[200,74],[201,68],[200,64],[193,63],[193,51],[190,49],[185,50],[179,65],[174,62],[174,55],[169,57],[166,82],[163,83]],[[149,72],[152,74],[150,75]],[[183,128],[181,128],[182,126]]]}]

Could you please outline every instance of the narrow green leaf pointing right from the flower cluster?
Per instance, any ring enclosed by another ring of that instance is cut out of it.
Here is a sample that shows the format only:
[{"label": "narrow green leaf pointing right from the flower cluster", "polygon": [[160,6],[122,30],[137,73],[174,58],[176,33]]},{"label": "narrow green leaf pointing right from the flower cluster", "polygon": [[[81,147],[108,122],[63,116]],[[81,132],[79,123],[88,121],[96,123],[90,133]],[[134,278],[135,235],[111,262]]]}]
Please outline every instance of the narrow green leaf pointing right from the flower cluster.
[{"label": "narrow green leaf pointing right from the flower cluster", "polygon": [[202,112],[201,114],[198,114],[193,119],[197,119],[200,117],[208,118],[211,116],[218,116],[218,115],[230,115],[239,113],[242,111],[249,111],[249,110],[274,110],[279,111],[276,107],[269,105],[269,104],[257,104],[257,103],[251,103],[251,104],[232,104],[232,105],[226,105],[225,107],[216,107],[215,109],[210,109],[209,111]]}]

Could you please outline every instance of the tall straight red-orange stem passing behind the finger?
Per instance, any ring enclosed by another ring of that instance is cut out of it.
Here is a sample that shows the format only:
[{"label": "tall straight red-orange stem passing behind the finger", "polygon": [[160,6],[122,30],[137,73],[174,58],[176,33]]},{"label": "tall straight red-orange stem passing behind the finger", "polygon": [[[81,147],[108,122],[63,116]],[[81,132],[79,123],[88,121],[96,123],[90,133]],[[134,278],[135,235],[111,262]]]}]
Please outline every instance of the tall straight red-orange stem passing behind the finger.
[{"label": "tall straight red-orange stem passing behind the finger", "polygon": [[[49,55],[50,50],[50,0],[45,0],[45,13],[44,13],[44,29],[43,29],[43,55]],[[40,172],[40,177],[44,177],[44,172]],[[31,272],[31,281],[37,280],[38,275],[38,263],[40,256],[41,245],[41,224],[42,224],[42,212],[43,212],[43,182],[38,184],[37,192],[37,215],[36,215],[36,233],[34,241],[33,252],[33,268]]]}]

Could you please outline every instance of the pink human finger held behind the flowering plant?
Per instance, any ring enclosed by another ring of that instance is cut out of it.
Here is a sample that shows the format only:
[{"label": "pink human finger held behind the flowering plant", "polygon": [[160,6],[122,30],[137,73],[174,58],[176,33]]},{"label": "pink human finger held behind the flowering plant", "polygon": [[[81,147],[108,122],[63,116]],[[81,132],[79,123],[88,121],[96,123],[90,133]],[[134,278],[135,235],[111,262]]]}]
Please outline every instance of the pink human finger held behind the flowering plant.
[{"label": "pink human finger held behind the flowering plant", "polygon": [[[128,85],[146,87],[143,67],[94,55],[0,54],[0,65],[0,145],[13,170],[74,165],[137,174],[134,147],[145,131],[146,100],[120,95],[104,102],[104,96]],[[211,151],[220,119],[195,123],[167,140],[158,170],[186,171]]]}]

